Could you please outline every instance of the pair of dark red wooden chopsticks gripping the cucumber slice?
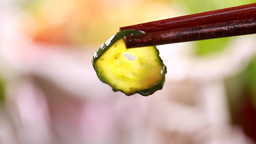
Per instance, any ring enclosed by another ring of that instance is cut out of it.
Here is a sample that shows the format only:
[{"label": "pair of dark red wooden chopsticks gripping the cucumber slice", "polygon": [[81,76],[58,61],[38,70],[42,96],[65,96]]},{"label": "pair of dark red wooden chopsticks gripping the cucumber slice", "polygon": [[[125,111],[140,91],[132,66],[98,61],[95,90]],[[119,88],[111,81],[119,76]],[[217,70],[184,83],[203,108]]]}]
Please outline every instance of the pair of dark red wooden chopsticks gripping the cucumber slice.
[{"label": "pair of dark red wooden chopsticks gripping the cucumber slice", "polygon": [[256,3],[119,28],[145,34],[125,36],[127,48],[256,33]]}]

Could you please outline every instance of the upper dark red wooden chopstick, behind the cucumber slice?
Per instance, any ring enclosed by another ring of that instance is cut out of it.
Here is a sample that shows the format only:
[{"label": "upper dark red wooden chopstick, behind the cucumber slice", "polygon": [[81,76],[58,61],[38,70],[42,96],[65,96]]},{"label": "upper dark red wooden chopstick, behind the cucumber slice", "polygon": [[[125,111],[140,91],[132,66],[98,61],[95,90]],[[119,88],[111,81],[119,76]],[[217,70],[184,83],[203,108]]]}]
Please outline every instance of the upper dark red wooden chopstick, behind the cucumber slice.
[{"label": "upper dark red wooden chopstick, behind the cucumber slice", "polygon": [[256,3],[121,27],[119,31],[133,29],[151,33],[249,18],[256,18]]}]

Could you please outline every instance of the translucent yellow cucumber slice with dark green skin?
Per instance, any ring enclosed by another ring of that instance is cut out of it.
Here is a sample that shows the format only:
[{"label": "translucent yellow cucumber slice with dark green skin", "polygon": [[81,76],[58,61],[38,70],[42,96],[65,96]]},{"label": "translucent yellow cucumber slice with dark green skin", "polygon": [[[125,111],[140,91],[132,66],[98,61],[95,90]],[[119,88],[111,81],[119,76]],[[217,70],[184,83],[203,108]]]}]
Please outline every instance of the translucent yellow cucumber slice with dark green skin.
[{"label": "translucent yellow cucumber slice with dark green skin", "polygon": [[92,58],[99,79],[109,84],[113,91],[121,91],[127,96],[136,93],[152,95],[162,89],[165,82],[167,69],[156,46],[125,47],[124,36],[141,33],[137,30],[116,33],[98,48]]}]

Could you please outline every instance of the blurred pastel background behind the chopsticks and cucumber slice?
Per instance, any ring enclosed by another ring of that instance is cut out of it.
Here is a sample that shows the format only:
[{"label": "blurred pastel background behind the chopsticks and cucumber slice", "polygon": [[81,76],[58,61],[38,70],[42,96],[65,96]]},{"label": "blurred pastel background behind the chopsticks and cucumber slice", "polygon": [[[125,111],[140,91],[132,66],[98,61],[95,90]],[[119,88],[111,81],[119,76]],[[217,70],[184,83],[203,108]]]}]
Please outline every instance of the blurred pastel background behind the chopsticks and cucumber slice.
[{"label": "blurred pastel background behind the chopsticks and cucumber slice", "polygon": [[0,143],[255,144],[255,34],[158,46],[167,78],[147,97],[91,64],[119,27],[255,2],[0,0]]}]

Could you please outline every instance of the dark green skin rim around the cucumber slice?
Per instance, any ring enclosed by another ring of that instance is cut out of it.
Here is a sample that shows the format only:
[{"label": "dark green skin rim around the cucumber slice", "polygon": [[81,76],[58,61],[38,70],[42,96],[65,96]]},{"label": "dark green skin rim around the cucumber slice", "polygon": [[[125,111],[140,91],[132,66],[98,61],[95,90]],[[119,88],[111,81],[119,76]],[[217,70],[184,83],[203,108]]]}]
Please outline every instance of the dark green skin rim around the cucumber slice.
[{"label": "dark green skin rim around the cucumber slice", "polygon": [[[142,31],[137,31],[137,30],[123,30],[123,31],[120,31],[118,33],[116,33],[114,36],[112,36],[109,40],[107,40],[107,42],[103,43],[100,48],[98,48],[97,52],[94,53],[93,55],[93,58],[92,58],[92,66],[94,68],[94,70],[96,71],[96,74],[98,76],[98,78],[103,82],[103,83],[106,83],[109,85],[109,83],[106,81],[106,79],[101,76],[100,74],[98,74],[98,70],[97,68],[95,68],[95,62],[101,57],[101,55],[103,55],[104,52],[106,52],[115,42],[117,42],[118,40],[122,39],[124,36],[128,36],[128,35],[132,35],[132,34],[144,34],[144,32]],[[159,50],[157,50],[157,54],[159,55]],[[152,95],[154,94],[156,91],[158,90],[161,90],[164,86],[164,83],[165,83],[165,75],[167,73],[167,68],[166,66],[164,65],[162,59],[159,57],[160,61],[159,63],[163,66],[163,74],[164,74],[164,77],[163,79],[159,82],[159,83],[156,83],[155,85],[153,85],[151,88],[148,88],[148,89],[143,89],[143,90],[140,90],[140,91],[133,91],[133,92],[129,92],[129,93],[125,93],[124,91],[122,91],[121,89],[115,89],[112,87],[112,90],[114,92],[116,91],[121,91],[123,92],[125,95],[127,96],[130,96],[130,95],[134,95],[134,94],[140,94],[140,95],[143,95],[143,96],[149,96],[149,95]]]}]

